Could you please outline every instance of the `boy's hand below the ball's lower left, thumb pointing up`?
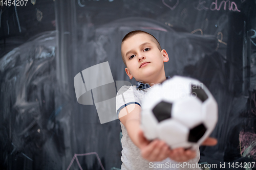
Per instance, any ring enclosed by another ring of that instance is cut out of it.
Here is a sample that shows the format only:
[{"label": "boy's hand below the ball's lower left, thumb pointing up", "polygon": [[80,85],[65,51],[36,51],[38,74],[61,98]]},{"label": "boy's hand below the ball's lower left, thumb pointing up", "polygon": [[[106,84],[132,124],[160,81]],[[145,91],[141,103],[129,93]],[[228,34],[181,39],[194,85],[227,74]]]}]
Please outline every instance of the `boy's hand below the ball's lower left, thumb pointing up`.
[{"label": "boy's hand below the ball's lower left, thumb pointing up", "polygon": [[142,131],[139,131],[140,151],[142,158],[148,161],[162,161],[170,154],[168,145],[159,139],[148,141]]}]

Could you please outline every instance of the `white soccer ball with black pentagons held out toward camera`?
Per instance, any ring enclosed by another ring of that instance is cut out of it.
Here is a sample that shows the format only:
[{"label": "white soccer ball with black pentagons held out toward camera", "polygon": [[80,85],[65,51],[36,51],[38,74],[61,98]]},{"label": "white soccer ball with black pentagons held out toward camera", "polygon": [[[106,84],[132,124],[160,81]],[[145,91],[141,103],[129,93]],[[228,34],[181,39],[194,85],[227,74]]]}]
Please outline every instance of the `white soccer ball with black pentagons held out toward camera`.
[{"label": "white soccer ball with black pentagons held out toward camera", "polygon": [[181,76],[154,85],[141,108],[144,136],[163,140],[171,149],[197,149],[218,120],[217,102],[205,85]]}]

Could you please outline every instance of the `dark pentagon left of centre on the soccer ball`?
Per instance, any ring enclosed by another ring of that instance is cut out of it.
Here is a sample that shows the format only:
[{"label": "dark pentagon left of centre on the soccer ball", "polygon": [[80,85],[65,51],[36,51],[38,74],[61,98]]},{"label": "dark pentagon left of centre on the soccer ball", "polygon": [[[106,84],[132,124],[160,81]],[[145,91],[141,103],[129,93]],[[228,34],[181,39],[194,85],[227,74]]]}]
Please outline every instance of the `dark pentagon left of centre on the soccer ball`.
[{"label": "dark pentagon left of centre on the soccer ball", "polygon": [[158,122],[161,122],[167,118],[170,118],[172,114],[172,103],[161,101],[153,109],[153,113]]}]

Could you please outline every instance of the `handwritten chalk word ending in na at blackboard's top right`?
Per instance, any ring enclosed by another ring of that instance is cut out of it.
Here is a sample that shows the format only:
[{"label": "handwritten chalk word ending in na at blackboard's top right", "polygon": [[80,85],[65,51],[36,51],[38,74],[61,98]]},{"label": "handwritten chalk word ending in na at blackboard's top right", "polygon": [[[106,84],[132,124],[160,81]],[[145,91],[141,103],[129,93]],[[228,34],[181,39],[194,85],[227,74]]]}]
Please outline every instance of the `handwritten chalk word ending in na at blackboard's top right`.
[{"label": "handwritten chalk word ending in na at blackboard's top right", "polygon": [[205,1],[199,0],[198,6],[197,6],[196,9],[199,10],[199,11],[202,11],[202,10],[205,10],[205,11],[207,11],[207,10],[211,10],[211,11],[217,10],[217,11],[220,11],[222,6],[223,6],[223,9],[226,10],[227,9],[227,4],[228,4],[228,10],[229,11],[241,12],[238,9],[237,4],[232,2],[232,1],[229,1],[229,0],[222,1],[221,3],[218,3],[218,0],[215,0],[215,2],[211,3],[209,8],[204,6],[205,3],[206,3]]}]

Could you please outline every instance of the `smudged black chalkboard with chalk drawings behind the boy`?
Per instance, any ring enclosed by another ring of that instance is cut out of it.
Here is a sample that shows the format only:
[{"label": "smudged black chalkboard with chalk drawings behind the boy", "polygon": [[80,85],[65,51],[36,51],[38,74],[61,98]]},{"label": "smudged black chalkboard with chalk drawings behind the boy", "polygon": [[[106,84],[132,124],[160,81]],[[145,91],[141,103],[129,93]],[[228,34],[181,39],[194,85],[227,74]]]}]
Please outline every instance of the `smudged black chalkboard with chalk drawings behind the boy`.
[{"label": "smudged black chalkboard with chalk drawings behind the boy", "polygon": [[79,104],[74,77],[108,62],[114,81],[130,81],[120,43],[133,30],[151,33],[167,51],[166,76],[196,78],[214,95],[219,121],[211,136],[218,144],[201,147],[200,162],[226,169],[255,162],[255,11],[250,0],[1,6],[0,168],[121,167],[119,120],[101,124],[95,105]]}]

